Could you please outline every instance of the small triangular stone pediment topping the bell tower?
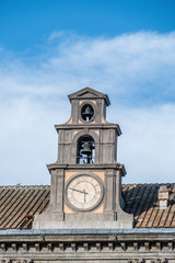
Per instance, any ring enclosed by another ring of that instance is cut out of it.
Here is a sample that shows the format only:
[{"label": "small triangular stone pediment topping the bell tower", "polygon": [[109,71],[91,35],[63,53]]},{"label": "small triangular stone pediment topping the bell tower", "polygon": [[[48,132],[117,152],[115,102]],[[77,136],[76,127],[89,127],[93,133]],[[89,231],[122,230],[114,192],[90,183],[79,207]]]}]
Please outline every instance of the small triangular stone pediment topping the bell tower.
[{"label": "small triangular stone pediment topping the bell tower", "polygon": [[81,89],[70,95],[68,95],[69,100],[80,100],[80,99],[104,99],[106,101],[106,104],[109,105],[109,99],[105,93],[98,92],[92,88],[84,88]]}]

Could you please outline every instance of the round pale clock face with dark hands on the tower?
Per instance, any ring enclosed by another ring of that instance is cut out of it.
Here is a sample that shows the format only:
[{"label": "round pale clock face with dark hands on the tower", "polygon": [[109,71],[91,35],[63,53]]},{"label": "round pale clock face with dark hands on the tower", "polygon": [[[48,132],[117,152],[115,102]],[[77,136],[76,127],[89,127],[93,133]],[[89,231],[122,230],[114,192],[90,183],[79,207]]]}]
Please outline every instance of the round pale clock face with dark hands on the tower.
[{"label": "round pale clock face with dark hands on the tower", "polygon": [[75,210],[91,210],[103,197],[102,183],[92,175],[77,175],[67,184],[68,205]]}]

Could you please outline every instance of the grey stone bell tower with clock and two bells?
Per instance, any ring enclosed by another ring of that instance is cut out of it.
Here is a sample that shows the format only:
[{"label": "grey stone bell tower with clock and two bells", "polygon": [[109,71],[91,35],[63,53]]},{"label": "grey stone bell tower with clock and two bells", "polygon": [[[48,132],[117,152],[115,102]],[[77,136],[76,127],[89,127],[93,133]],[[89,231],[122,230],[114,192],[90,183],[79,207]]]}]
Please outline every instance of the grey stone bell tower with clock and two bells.
[{"label": "grey stone bell tower with clock and two bells", "polygon": [[106,121],[106,94],[84,88],[69,96],[70,119],[56,125],[58,159],[51,175],[50,203],[35,216],[34,229],[132,228],[132,215],[121,207],[121,176],[117,162],[118,124]]}]

